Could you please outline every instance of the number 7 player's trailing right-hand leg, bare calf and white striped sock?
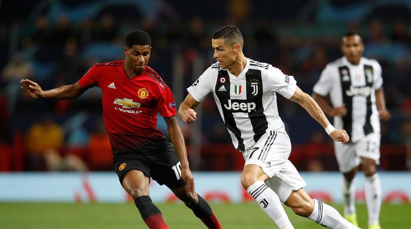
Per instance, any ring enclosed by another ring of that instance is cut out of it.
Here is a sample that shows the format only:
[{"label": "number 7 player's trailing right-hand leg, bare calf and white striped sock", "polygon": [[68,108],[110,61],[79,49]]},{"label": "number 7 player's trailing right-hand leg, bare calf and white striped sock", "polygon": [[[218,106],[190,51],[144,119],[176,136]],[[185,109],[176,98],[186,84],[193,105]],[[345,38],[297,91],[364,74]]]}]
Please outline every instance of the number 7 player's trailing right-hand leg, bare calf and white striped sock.
[{"label": "number 7 player's trailing right-hand leg, bare calf and white striped sock", "polygon": [[316,223],[328,228],[358,228],[343,218],[333,207],[321,201],[311,199],[303,188],[292,191],[284,204],[290,207],[295,214],[312,219]]}]

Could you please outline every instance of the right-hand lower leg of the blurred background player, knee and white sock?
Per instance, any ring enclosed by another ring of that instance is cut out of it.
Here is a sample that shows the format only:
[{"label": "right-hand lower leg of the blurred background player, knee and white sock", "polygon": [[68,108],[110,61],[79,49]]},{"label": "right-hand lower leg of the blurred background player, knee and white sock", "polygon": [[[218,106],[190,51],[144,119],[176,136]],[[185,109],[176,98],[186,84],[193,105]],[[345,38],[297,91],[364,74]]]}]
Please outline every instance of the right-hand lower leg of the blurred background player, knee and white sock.
[{"label": "right-hand lower leg of the blurred background player, knee and white sock", "polygon": [[373,159],[361,157],[363,171],[365,175],[365,200],[368,210],[368,228],[380,229],[380,211],[381,211],[381,182],[378,173],[376,173],[376,162]]}]

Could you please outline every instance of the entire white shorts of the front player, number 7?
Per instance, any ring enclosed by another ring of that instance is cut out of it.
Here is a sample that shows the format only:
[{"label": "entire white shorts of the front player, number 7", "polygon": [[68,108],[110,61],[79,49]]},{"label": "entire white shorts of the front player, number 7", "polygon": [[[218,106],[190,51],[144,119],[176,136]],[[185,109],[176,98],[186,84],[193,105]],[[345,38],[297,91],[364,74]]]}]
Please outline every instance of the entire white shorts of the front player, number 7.
[{"label": "entire white shorts of the front player, number 7", "polygon": [[286,202],[291,191],[306,185],[288,156],[291,142],[287,133],[267,131],[255,145],[243,152],[246,165],[257,165],[270,178],[265,184],[277,193],[282,203]]}]

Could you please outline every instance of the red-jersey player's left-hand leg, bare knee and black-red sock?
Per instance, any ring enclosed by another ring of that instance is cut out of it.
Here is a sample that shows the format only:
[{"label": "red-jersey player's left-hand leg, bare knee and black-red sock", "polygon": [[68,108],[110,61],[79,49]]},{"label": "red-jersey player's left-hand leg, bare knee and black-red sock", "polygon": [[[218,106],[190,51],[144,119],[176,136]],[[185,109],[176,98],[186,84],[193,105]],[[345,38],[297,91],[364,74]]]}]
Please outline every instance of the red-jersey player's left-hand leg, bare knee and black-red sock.
[{"label": "red-jersey player's left-hand leg, bare knee and black-red sock", "polygon": [[150,229],[168,228],[160,209],[151,202],[149,183],[150,178],[144,175],[142,171],[130,170],[123,176],[121,185],[133,198],[141,217]]}]

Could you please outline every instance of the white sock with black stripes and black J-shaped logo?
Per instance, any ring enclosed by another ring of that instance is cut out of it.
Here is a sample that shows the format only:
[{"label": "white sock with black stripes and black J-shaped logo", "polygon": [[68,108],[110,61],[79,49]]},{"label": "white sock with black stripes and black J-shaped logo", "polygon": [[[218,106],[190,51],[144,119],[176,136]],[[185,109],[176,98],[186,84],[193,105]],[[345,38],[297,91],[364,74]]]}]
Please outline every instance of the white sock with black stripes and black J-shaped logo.
[{"label": "white sock with black stripes and black J-shaped logo", "polygon": [[277,193],[271,190],[264,181],[257,181],[247,188],[250,193],[260,204],[261,209],[267,214],[280,228],[293,229],[290,220],[281,204]]}]

